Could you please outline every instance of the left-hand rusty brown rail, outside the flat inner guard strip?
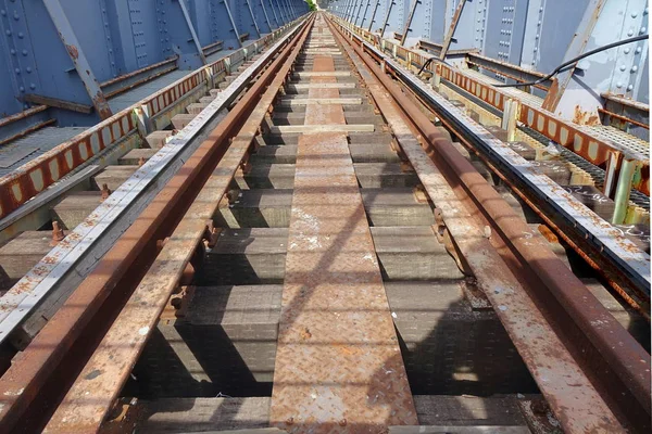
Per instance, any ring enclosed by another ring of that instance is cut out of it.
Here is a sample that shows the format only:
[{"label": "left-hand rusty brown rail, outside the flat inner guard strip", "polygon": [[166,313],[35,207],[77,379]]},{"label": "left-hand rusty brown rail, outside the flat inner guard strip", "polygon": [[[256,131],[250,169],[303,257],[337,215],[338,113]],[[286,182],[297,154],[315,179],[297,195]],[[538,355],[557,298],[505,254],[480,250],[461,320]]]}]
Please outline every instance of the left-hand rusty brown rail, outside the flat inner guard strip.
[{"label": "left-hand rusty brown rail, outside the flat inner guard strip", "polygon": [[[296,34],[298,26],[292,34]],[[287,47],[278,42],[272,54]],[[262,61],[261,61],[262,63]],[[261,63],[252,65],[260,71]],[[241,85],[238,79],[234,88]],[[261,81],[250,89],[255,92]],[[251,93],[247,93],[251,95]],[[10,432],[18,421],[34,418],[37,426],[48,411],[63,397],[76,374],[120,307],[138,284],[143,270],[155,257],[156,240],[164,239],[190,206],[193,188],[203,183],[225,152],[224,142],[246,123],[253,97],[241,100],[223,122],[197,148],[140,216],[102,257],[92,272],[66,299],[32,344],[17,355],[11,368],[0,378],[0,432]],[[180,140],[180,139],[179,139]],[[197,192],[195,192],[197,193]],[[115,193],[114,193],[115,194]],[[70,235],[68,235],[70,237]]]}]

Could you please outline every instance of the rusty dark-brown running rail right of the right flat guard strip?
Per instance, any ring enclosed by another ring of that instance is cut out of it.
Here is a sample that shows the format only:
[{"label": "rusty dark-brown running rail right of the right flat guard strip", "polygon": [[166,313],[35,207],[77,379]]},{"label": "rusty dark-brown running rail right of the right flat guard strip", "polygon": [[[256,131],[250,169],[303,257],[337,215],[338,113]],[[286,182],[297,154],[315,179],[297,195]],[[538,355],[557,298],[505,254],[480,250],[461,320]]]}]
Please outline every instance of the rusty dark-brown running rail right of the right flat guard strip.
[{"label": "rusty dark-brown running rail right of the right flat guard strip", "polygon": [[[353,47],[360,52],[356,43]],[[456,152],[450,140],[437,132],[437,129],[427,117],[410,100],[405,99],[396,85],[380,73],[380,68],[371,62],[369,58],[363,55],[362,59],[378,79],[384,82],[386,89],[390,91],[405,113],[405,116],[418,126],[419,132],[428,140],[431,150],[437,155],[437,161],[440,164],[448,165],[449,175],[459,177],[457,183],[464,187],[466,193],[481,208],[482,214],[492,221],[492,227],[500,231],[501,238],[511,244],[510,248],[517,252],[516,256],[521,258],[519,260],[527,264],[527,267],[554,294],[559,303],[568,310],[573,320],[576,321],[581,331],[586,333],[587,339],[598,348],[613,371],[639,400],[642,408],[649,409],[650,356],[555,257],[549,247],[543,245],[538,238],[531,237],[527,225],[518,219],[511,207],[487,184],[468,161]],[[397,66],[392,65],[392,67]],[[465,124],[473,123],[472,119],[466,118],[463,118],[462,122]],[[485,136],[489,135],[486,133]],[[503,144],[503,148],[506,146]],[[488,294],[490,297],[497,295],[499,294]],[[504,305],[504,302],[498,306],[501,305]],[[499,307],[499,315],[504,315],[504,312],[509,312],[509,309],[500,311]],[[527,311],[522,310],[521,312],[527,316]],[[607,381],[607,379],[602,380]]]}]

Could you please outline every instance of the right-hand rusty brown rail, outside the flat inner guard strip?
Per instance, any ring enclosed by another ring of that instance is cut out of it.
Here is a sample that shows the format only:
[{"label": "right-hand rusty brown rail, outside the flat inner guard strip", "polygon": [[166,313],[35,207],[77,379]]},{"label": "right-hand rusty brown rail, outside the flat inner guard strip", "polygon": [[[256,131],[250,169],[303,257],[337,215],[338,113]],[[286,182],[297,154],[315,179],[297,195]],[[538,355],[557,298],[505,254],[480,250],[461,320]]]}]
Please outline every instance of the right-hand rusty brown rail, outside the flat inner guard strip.
[{"label": "right-hand rusty brown rail, outside the flat inner guard strip", "polygon": [[[384,69],[398,72],[402,79],[406,73],[388,59],[385,54],[379,53],[374,47],[366,43],[360,37],[347,30],[352,39],[356,39],[353,43],[358,50],[372,51],[376,59],[384,62]],[[372,65],[369,56],[362,59]],[[371,67],[371,66],[369,66]],[[378,66],[374,65],[378,68]],[[582,360],[584,366],[594,363],[594,376],[591,376],[593,382],[600,384],[604,390],[619,390],[630,393],[636,398],[637,409],[642,409],[649,414],[650,411],[650,356],[645,350],[634,340],[634,337],[613,318],[613,316],[600,304],[600,302],[586,289],[586,286],[570,272],[570,270],[543,244],[542,240],[525,235],[529,228],[514,213],[514,210],[504,202],[504,200],[493,190],[487,181],[477,173],[471,163],[464,158],[452,145],[449,139],[446,139],[437,131],[436,127],[417,107],[415,107],[406,97],[398,90],[385,74],[378,77],[388,89],[394,89],[392,95],[399,102],[399,105],[415,124],[418,125],[424,138],[432,143],[434,151],[442,163],[446,163],[452,174],[456,174],[459,181],[474,197],[478,207],[487,220],[489,220],[494,230],[497,230],[504,240],[509,250],[515,258],[521,263],[522,267],[531,271],[531,276],[536,277],[543,288],[547,288],[554,299],[559,303],[567,315],[567,320],[575,323],[586,342],[574,343],[576,348],[580,348],[575,353],[591,354],[600,360]],[[417,86],[417,85],[415,85]],[[441,99],[443,100],[443,99]],[[442,105],[448,103],[446,100],[438,101]],[[461,116],[460,124],[471,126],[475,125],[473,119],[467,116]],[[464,131],[466,132],[466,131]],[[478,132],[479,133],[479,132]],[[480,135],[485,140],[489,137],[487,132]],[[496,143],[493,143],[496,142]],[[506,148],[499,140],[492,140],[493,148]],[[514,157],[514,156],[512,156]],[[493,239],[493,237],[492,237]],[[554,321],[551,321],[554,322]],[[568,345],[567,340],[565,341]],[[594,348],[593,352],[587,352],[589,345]],[[594,368],[599,366],[599,368]],[[617,376],[622,384],[613,385],[614,378],[606,378],[604,371],[606,369]],[[588,368],[587,368],[588,369]],[[615,394],[612,396],[616,396]],[[613,398],[618,400],[617,398]],[[631,410],[632,403],[624,406],[620,400],[620,409],[625,412]],[[613,400],[610,404],[614,404]],[[623,408],[629,407],[629,408]],[[636,410],[634,410],[636,411]],[[632,412],[634,412],[632,411]],[[631,412],[629,413],[631,416]],[[642,416],[644,417],[644,414]],[[639,420],[640,418],[639,417]]]}]

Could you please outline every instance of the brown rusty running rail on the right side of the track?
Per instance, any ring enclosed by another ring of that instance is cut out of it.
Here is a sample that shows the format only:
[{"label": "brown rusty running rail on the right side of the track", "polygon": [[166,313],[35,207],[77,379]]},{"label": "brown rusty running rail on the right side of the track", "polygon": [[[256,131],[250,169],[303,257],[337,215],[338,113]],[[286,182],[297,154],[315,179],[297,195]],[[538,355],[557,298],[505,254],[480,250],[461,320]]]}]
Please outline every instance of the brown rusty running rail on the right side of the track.
[{"label": "brown rusty running rail on the right side of the track", "polygon": [[[353,38],[350,30],[346,31]],[[638,427],[641,424],[649,426],[650,355],[541,240],[524,235],[529,233],[527,225],[455,150],[450,139],[443,137],[428,117],[381,72],[373,58],[363,54],[366,46],[359,46],[358,42],[352,43],[367,67],[391,93],[405,117],[412,120],[429,143],[434,158],[449,182],[463,188],[464,194],[473,200],[478,213],[497,232],[499,237],[491,237],[491,241],[503,260],[511,264],[513,272],[518,269],[527,270],[517,276],[526,282],[530,297],[537,304],[544,305],[548,312],[554,312],[547,314],[547,320],[556,328],[557,335],[582,371],[587,372],[603,399],[610,407],[617,408],[618,417],[627,419],[628,423]],[[528,314],[524,311],[522,315]],[[557,315],[560,317],[555,318]],[[625,404],[620,399],[623,394],[630,396],[631,400],[626,400]],[[551,405],[554,407],[561,404],[555,400]],[[556,407],[556,410],[565,408]]]}]

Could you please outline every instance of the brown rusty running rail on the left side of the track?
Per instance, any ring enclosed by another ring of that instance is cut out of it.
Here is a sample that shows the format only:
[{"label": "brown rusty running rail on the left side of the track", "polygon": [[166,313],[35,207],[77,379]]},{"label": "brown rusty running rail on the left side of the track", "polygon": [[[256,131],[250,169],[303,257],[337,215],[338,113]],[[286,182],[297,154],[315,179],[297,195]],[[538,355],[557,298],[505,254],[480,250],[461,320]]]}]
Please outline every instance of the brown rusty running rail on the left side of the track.
[{"label": "brown rusty running rail on the left side of the track", "polygon": [[[288,38],[294,35],[297,30],[298,28],[293,29]],[[266,53],[261,58],[261,62],[272,59],[287,40],[287,38],[284,38],[278,44],[274,46],[268,54]],[[256,67],[253,67],[253,69],[256,69]],[[253,85],[252,91],[260,92],[263,85],[266,84],[259,79]],[[234,86],[234,89],[238,88],[236,82],[231,86]],[[226,89],[222,93],[226,95],[231,92]],[[106,299],[113,301],[115,298],[112,295],[113,292],[127,291],[125,286],[133,284],[131,277],[139,276],[140,272],[134,267],[149,265],[142,256],[149,254],[158,239],[168,234],[168,231],[173,228],[170,226],[180,218],[178,216],[179,209],[189,206],[190,201],[197,193],[193,192],[192,187],[203,183],[209,178],[211,170],[217,164],[217,159],[224,153],[225,146],[223,143],[236,133],[237,128],[244,122],[247,113],[254,105],[255,101],[250,98],[238,103],[228,113],[217,128],[209,135],[192,156],[149,203],[139,218],[128,227],[125,233],[102,257],[92,273],[73,292],[33,343],[16,356],[12,367],[0,379],[0,432],[10,432],[26,412],[36,412],[36,417],[42,418],[42,409],[30,407],[41,396],[53,394],[54,401],[62,398],[65,390],[46,391],[41,387],[48,384],[53,373],[54,376],[61,378],[64,383],[63,378],[76,375],[78,371],[75,372],[74,369],[80,369],[82,366],[75,368],[60,366],[61,361],[67,356],[71,348],[86,348],[85,345],[87,344],[80,339],[85,329],[91,327],[93,318],[100,311],[115,309],[115,306],[106,305]],[[168,149],[172,149],[174,140],[181,139],[173,139],[173,142],[167,146]],[[114,197],[116,193],[114,192],[106,202]],[[110,218],[110,214],[106,216],[106,218]],[[85,225],[80,225],[80,227],[85,227]],[[66,240],[59,243],[53,252],[58,252],[57,250],[60,247],[65,247],[66,242],[79,242],[78,237],[77,239],[75,237],[71,239],[71,235],[68,234]],[[77,245],[76,248],[83,251],[84,244]],[[50,254],[48,257],[47,263],[50,263],[50,273],[54,273],[53,278],[60,276],[57,267],[72,266],[59,254]],[[140,263],[135,266],[137,259],[145,260],[146,264]],[[40,279],[42,284],[48,283],[42,277]],[[74,359],[74,361],[84,363],[84,360]],[[68,381],[72,382],[72,380],[74,380],[74,376],[70,378]],[[62,386],[60,385],[60,387]]]}]

